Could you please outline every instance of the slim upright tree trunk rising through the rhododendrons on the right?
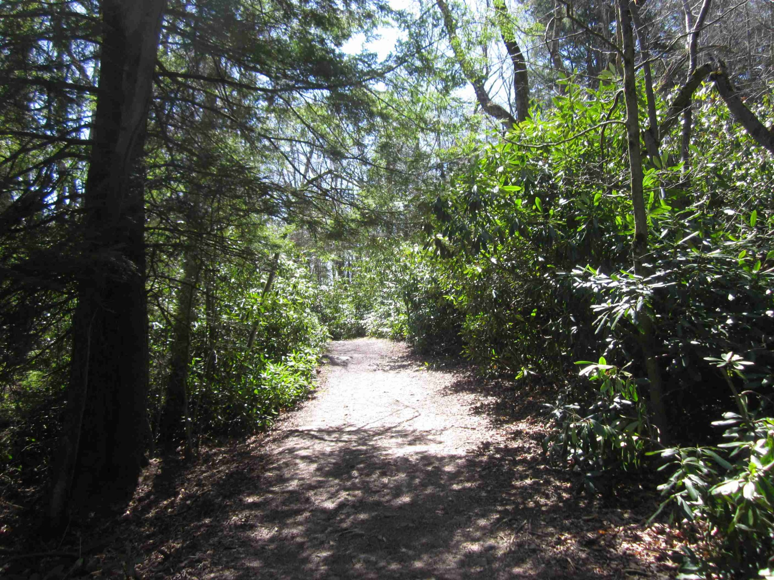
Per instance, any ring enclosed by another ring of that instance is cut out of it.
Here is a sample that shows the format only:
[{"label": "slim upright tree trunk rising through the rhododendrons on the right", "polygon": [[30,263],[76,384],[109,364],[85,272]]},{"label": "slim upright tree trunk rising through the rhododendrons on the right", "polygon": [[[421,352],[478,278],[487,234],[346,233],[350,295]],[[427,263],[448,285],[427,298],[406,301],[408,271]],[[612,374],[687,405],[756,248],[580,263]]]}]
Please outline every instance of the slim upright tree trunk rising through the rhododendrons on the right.
[{"label": "slim upright tree trunk rising through the rhododendrons on the right", "polygon": [[[629,12],[629,0],[618,2],[618,29],[621,31],[624,69],[624,100],[626,103],[626,135],[628,138],[628,155],[632,188],[632,208],[634,210],[635,234],[632,250],[634,253],[635,271],[642,275],[642,257],[648,249],[648,217],[645,200],[642,196],[642,150],[639,144],[639,108],[637,104],[637,89],[635,86],[635,55],[634,37],[632,35],[632,16]],[[641,317],[642,331],[640,346],[649,380],[650,411],[653,423],[659,428],[663,438],[668,436],[666,408],[663,402],[663,384],[659,361],[656,359],[656,339],[652,321],[644,312]]]}]

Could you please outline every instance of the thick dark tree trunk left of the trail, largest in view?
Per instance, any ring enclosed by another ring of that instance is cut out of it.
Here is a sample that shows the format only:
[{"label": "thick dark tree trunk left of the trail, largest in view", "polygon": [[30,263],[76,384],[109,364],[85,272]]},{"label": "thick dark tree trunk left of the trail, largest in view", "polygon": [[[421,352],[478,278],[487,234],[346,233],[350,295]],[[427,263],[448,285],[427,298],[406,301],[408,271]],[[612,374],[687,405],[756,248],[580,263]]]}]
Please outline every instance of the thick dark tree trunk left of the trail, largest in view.
[{"label": "thick dark tree trunk left of the trail, largest in view", "polygon": [[128,498],[144,462],[148,388],[142,154],[165,0],[104,0],[84,190],[84,258],[49,515]]}]

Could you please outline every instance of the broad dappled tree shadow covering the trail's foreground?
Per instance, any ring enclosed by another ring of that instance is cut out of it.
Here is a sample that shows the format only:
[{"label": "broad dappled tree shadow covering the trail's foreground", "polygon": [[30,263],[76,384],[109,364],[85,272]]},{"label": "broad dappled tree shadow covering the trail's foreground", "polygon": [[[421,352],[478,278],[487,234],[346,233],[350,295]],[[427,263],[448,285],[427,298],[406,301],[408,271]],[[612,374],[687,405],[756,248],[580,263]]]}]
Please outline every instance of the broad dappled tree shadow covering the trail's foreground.
[{"label": "broad dappled tree shadow covering the trail's foreground", "polygon": [[[392,438],[404,448],[432,442],[400,428],[287,437],[292,445],[265,465],[265,476],[261,459],[244,456],[215,489],[178,507],[187,513],[170,530],[179,537],[165,576],[194,564],[203,573],[217,568],[219,578],[622,577],[578,557],[579,548],[616,546],[579,535],[580,515],[557,521],[567,508],[546,491],[556,484],[544,486],[538,469],[515,481],[513,449],[391,455]],[[329,445],[324,455],[320,442]],[[161,524],[170,515],[148,517]],[[572,559],[562,555],[568,533],[578,544]]]}]

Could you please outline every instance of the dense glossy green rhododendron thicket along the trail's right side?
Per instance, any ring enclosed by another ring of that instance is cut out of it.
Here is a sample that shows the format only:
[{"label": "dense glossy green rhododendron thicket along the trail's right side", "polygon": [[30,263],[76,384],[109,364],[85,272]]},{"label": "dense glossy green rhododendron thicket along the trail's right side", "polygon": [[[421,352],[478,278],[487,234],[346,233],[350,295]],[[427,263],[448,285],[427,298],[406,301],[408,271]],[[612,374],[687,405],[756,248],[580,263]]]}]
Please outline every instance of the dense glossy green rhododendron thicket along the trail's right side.
[{"label": "dense glossy green rhododendron thicket along the trail's right side", "polygon": [[[684,577],[756,577],[774,548],[774,166],[705,91],[690,179],[668,154],[645,172],[637,271],[625,135],[600,127],[621,118],[617,98],[566,84],[550,114],[428,193],[423,244],[375,247],[336,288],[337,336],[459,354],[518,391],[552,385],[551,462],[590,493],[657,469],[659,515],[704,537]],[[774,117],[769,101],[759,114]]]}]

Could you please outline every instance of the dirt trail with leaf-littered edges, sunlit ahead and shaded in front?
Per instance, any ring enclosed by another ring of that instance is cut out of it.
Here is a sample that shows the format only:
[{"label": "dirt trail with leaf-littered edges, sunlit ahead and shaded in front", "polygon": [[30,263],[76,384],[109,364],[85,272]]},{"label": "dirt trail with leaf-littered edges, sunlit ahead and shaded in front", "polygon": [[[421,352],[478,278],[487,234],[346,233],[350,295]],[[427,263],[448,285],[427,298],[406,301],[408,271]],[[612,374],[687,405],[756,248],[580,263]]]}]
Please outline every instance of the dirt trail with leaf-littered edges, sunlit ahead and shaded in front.
[{"label": "dirt trail with leaf-littered edges, sunlit ahead and shaded in front", "polygon": [[676,538],[642,526],[652,493],[576,493],[543,461],[539,401],[513,384],[387,340],[334,342],[327,360],[272,432],[182,469],[152,462],[122,517],[78,532],[84,558],[37,577],[673,575]]}]

